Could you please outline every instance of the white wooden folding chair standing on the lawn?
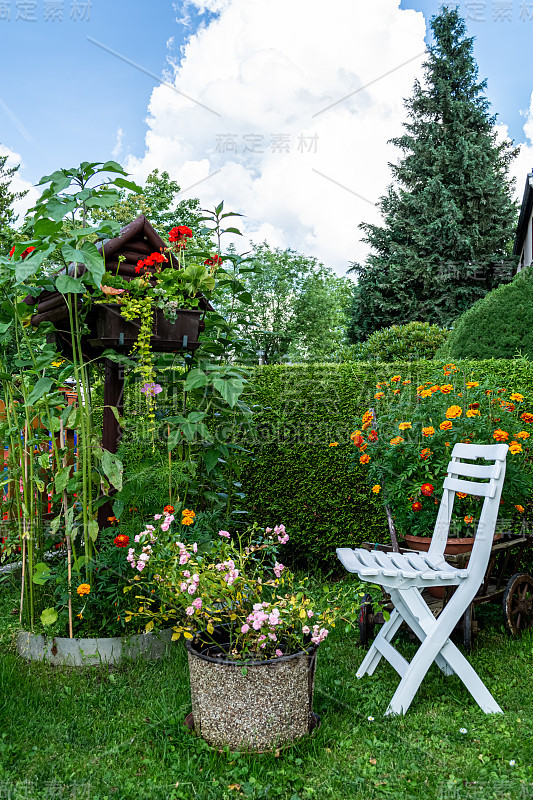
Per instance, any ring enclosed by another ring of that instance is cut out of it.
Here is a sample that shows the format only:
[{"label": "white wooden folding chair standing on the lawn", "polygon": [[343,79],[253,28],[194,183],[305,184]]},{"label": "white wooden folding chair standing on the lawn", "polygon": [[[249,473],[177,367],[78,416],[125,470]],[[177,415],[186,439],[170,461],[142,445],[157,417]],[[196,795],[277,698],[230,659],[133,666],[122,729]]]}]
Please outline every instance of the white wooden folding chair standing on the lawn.
[{"label": "white wooden folding chair standing on the lawn", "polygon": [[[357,671],[358,678],[372,675],[384,657],[399,673],[401,681],[386,714],[405,714],[433,661],[445,675],[458,675],[485,713],[503,713],[449,637],[474,599],[487,569],[505,478],[507,450],[506,444],[455,445],[448,475],[444,479],[429,552],[401,554],[344,547],[337,549],[339,559],[349,572],[356,572],[363,581],[385,587],[394,605],[390,619],[381,628]],[[492,463],[469,463],[478,459]],[[467,480],[470,478],[474,480]],[[465,569],[455,569],[447,564],[443,555],[456,492],[485,498],[472,555]],[[437,618],[421,594],[429,586],[457,587]],[[410,663],[391,644],[404,620],[421,641]]]}]

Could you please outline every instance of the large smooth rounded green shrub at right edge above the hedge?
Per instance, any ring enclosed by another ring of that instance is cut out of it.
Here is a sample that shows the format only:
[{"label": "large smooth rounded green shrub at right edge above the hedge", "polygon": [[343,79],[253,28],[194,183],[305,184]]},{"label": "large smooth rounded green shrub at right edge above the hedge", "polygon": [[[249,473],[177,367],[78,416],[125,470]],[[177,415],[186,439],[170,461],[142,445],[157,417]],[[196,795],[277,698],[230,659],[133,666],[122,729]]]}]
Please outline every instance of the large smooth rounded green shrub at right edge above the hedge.
[{"label": "large smooth rounded green shrub at right edge above the hedge", "polygon": [[439,356],[533,358],[533,270],[493,289],[455,323]]}]

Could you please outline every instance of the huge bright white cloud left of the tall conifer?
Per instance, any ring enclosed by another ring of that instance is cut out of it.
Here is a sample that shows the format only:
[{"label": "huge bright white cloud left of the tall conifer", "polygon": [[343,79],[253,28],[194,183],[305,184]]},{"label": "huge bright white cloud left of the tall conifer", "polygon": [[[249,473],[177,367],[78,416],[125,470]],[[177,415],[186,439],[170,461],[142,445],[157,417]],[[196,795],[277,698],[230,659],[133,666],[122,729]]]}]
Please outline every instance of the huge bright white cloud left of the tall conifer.
[{"label": "huge bright white cloud left of the tall conifer", "polygon": [[183,47],[175,89],[153,90],[146,150],[129,171],[203,181],[188,196],[246,214],[249,238],[344,273],[365,256],[357,226],[378,221],[397,158],[387,140],[421,74],[424,17],[399,4],[190,0],[218,16]]}]

